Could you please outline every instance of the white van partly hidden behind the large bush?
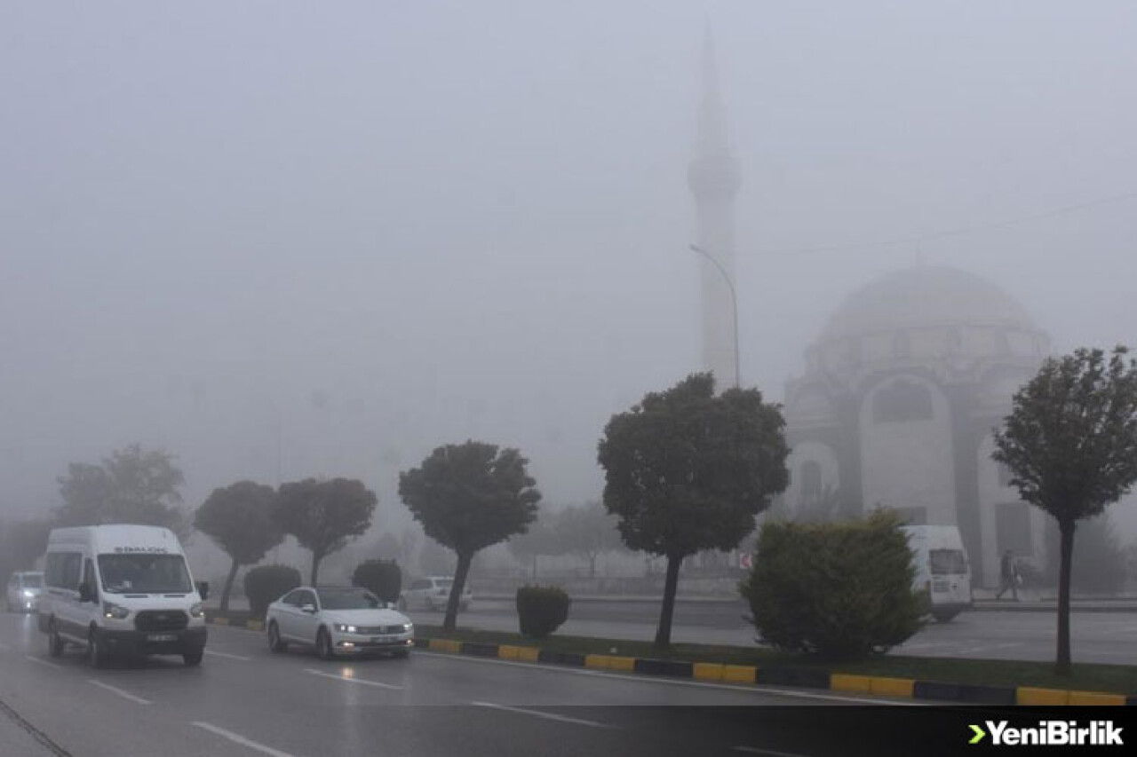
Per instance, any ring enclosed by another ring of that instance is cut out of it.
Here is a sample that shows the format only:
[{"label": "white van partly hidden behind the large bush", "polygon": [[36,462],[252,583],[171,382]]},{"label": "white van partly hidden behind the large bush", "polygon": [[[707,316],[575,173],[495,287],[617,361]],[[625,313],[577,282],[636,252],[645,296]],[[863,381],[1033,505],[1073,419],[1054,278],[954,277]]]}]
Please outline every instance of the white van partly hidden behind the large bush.
[{"label": "white van partly hidden behind the large bush", "polygon": [[904,526],[916,568],[913,588],[928,591],[931,615],[946,623],[972,605],[971,565],[955,526]]}]

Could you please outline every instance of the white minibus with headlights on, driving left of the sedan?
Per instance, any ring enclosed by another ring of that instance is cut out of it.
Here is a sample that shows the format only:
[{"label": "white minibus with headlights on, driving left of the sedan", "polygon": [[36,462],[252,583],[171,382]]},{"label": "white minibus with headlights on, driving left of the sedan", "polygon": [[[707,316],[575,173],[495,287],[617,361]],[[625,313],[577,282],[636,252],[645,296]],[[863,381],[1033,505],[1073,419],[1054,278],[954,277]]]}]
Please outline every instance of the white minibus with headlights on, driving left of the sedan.
[{"label": "white minibus with headlights on, driving left of the sedan", "polygon": [[96,667],[111,655],[181,655],[186,665],[201,664],[209,587],[193,583],[169,529],[55,529],[44,567],[36,609],[52,657],[73,643]]}]

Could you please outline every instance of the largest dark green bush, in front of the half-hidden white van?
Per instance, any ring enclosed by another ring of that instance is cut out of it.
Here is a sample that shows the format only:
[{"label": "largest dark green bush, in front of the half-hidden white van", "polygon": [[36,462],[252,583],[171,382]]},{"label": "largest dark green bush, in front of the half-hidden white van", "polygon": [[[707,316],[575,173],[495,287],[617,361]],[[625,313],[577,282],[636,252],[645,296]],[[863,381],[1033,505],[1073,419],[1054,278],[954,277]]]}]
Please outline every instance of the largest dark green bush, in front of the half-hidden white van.
[{"label": "largest dark green bush, in front of the half-hidden white van", "polygon": [[895,514],[841,523],[766,523],[739,591],[754,625],[781,649],[852,659],[920,630],[927,606]]}]

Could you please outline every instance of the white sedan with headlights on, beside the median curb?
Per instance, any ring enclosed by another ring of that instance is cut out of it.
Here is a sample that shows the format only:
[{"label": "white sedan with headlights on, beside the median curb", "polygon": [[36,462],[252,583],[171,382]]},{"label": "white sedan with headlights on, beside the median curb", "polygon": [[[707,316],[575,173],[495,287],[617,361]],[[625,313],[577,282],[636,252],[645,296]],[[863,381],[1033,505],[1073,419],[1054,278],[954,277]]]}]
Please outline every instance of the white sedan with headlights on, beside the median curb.
[{"label": "white sedan with headlights on, beside the median curb", "polygon": [[265,631],[274,652],[299,643],[324,659],[368,652],[406,657],[415,646],[410,618],[358,587],[293,589],[268,606]]}]

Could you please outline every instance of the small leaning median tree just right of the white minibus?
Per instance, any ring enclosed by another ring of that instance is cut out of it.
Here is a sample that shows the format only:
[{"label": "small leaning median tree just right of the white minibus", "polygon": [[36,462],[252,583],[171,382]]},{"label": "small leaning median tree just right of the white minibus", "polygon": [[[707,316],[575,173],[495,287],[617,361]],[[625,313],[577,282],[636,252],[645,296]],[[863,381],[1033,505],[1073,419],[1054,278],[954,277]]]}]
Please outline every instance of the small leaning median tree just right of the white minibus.
[{"label": "small leaning median tree just right of the white minibus", "polygon": [[284,541],[273,519],[272,486],[239,481],[215,489],[193,516],[193,526],[208,535],[233,559],[221,592],[221,609],[229,609],[229,596],[242,565],[264,559],[269,549]]}]

